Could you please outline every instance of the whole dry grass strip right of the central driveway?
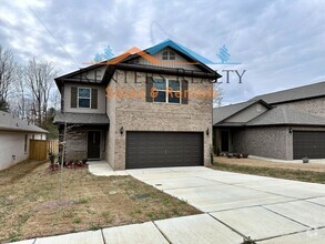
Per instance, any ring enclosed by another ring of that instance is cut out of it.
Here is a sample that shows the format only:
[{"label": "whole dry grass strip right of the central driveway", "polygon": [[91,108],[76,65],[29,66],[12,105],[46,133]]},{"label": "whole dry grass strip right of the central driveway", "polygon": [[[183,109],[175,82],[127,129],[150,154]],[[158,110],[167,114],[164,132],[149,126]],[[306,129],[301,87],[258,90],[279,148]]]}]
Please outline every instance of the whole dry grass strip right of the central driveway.
[{"label": "whole dry grass strip right of the central driveway", "polygon": [[215,156],[214,170],[325,184],[324,164],[275,163],[255,159]]}]

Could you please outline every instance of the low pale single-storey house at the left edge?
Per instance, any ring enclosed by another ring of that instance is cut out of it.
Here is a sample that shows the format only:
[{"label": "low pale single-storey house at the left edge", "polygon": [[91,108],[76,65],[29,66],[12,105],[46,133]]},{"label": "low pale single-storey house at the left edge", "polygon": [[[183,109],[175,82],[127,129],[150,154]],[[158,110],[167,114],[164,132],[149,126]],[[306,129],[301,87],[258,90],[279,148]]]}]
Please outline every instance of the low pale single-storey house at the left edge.
[{"label": "low pale single-storey house at the left edge", "polygon": [[0,111],[0,170],[29,157],[30,139],[45,140],[48,131]]}]

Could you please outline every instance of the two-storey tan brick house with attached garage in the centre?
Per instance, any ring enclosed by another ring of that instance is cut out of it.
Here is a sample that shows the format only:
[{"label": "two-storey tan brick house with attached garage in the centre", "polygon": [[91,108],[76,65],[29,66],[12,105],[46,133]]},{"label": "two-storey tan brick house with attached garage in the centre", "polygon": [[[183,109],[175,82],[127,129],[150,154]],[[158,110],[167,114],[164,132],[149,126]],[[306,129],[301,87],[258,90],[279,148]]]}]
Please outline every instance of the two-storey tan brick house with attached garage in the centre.
[{"label": "two-storey tan brick house with attached garage in the centre", "polygon": [[195,94],[221,75],[171,40],[116,59],[55,79],[65,160],[106,160],[114,170],[209,165],[213,99]]}]

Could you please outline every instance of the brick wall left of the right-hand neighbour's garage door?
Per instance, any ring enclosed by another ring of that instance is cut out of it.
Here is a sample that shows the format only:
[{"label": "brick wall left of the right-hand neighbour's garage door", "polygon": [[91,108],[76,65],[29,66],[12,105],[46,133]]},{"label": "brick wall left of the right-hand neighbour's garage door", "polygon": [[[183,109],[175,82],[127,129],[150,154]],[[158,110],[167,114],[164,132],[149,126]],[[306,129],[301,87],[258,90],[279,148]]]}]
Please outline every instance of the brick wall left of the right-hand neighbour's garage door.
[{"label": "brick wall left of the right-hand neighbour's garage door", "polygon": [[234,152],[293,160],[292,134],[286,126],[247,128],[233,131]]}]

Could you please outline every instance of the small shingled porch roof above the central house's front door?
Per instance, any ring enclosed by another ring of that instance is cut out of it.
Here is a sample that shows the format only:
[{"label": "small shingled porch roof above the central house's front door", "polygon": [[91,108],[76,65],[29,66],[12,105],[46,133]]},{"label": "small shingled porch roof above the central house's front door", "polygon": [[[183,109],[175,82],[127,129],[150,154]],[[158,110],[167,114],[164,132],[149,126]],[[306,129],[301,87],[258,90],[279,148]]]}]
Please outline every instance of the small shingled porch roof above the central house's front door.
[{"label": "small shingled porch roof above the central house's front door", "polygon": [[[64,121],[65,116],[65,121]],[[98,113],[57,113],[53,123],[68,124],[110,124],[106,114]]]}]

